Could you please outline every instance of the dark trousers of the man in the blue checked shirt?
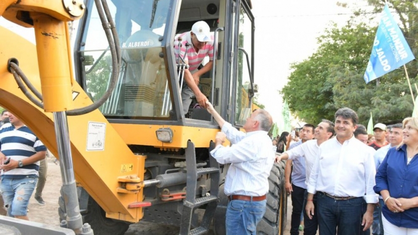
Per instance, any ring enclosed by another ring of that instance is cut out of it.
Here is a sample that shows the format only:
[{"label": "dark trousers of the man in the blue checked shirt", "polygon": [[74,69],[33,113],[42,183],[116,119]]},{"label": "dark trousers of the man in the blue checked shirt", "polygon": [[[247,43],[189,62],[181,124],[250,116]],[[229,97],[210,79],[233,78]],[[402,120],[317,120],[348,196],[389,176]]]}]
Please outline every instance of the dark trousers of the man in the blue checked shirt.
[{"label": "dark trousers of the man in the blue checked shirt", "polygon": [[292,220],[290,224],[290,235],[299,235],[299,225],[301,224],[301,215],[304,207],[305,188],[292,184]]}]

